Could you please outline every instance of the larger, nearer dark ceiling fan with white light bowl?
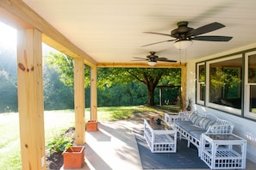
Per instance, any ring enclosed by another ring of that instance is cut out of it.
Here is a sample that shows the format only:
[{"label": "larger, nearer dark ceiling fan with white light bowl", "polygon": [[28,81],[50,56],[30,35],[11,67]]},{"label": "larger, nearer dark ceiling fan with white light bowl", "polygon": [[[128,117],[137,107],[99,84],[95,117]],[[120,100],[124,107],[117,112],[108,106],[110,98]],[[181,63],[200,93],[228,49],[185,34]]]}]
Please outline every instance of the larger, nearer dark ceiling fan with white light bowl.
[{"label": "larger, nearer dark ceiling fan with white light bowl", "polygon": [[218,36],[218,35],[206,35],[206,36],[198,36],[203,33],[209,33],[212,31],[215,31],[217,29],[220,29],[222,27],[225,27],[219,22],[212,22],[207,25],[204,25],[203,27],[198,27],[196,29],[192,27],[188,27],[189,22],[188,21],[180,21],[177,23],[178,28],[173,29],[171,31],[171,34],[167,33],[154,33],[154,32],[144,32],[144,33],[153,33],[153,34],[159,34],[159,35],[165,35],[172,37],[174,39],[168,39],[164,41],[159,41],[151,44],[147,44],[144,46],[151,46],[163,42],[170,42],[174,41],[174,46],[178,49],[186,49],[192,44],[192,40],[203,40],[203,41],[229,41],[233,37],[229,36]]}]

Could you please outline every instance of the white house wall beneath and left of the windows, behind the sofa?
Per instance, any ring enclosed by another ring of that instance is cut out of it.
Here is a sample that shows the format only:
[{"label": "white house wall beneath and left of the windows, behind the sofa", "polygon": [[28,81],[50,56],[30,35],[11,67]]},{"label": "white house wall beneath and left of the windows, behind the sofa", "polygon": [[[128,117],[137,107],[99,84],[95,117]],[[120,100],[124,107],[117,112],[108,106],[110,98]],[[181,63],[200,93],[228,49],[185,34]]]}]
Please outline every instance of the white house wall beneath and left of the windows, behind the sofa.
[{"label": "white house wall beneath and left of the windows, behind the sofa", "polygon": [[212,114],[234,124],[234,134],[247,140],[247,159],[256,163],[256,121],[240,118],[227,112],[218,111],[196,104],[196,62],[187,64],[187,98],[193,101],[192,111]]}]

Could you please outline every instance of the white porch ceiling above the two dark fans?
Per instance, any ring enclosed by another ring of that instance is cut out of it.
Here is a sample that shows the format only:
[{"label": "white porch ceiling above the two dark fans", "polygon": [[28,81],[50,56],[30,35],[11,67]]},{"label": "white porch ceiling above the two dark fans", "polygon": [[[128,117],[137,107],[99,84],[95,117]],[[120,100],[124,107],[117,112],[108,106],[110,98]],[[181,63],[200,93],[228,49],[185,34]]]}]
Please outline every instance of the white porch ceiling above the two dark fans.
[{"label": "white porch ceiling above the two dark fans", "polygon": [[[182,62],[256,43],[255,0],[23,0],[60,33],[98,63],[129,63],[154,51]],[[173,42],[141,47],[171,37],[178,21],[197,28],[218,21],[225,25],[203,35],[234,37],[229,42],[193,42],[179,53]]]}]

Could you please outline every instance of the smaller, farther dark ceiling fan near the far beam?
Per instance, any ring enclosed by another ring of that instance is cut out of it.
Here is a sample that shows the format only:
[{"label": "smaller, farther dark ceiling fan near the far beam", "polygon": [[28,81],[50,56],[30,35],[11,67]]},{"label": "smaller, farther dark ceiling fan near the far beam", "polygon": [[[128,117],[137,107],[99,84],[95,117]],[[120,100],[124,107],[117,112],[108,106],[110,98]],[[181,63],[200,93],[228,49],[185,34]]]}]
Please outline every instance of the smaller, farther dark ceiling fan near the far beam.
[{"label": "smaller, farther dark ceiling fan near the far beam", "polygon": [[176,60],[170,60],[167,58],[159,58],[157,55],[155,55],[156,52],[149,52],[150,55],[147,55],[147,58],[136,58],[136,60],[133,61],[147,61],[147,64],[153,66],[157,64],[158,61],[160,62],[177,62]]}]

